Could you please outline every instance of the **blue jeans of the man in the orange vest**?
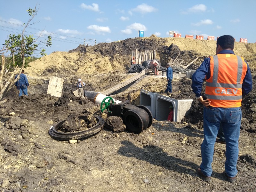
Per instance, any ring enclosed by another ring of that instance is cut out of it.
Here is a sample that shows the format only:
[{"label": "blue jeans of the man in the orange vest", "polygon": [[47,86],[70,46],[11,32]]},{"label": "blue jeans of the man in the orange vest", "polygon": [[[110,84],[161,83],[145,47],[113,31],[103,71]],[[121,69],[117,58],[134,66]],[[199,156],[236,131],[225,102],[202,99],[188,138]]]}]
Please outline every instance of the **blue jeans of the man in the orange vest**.
[{"label": "blue jeans of the man in the orange vest", "polygon": [[212,175],[213,150],[220,124],[222,124],[226,139],[225,171],[229,177],[236,176],[241,118],[241,107],[204,107],[204,140],[201,145],[202,163],[200,168],[205,176]]}]

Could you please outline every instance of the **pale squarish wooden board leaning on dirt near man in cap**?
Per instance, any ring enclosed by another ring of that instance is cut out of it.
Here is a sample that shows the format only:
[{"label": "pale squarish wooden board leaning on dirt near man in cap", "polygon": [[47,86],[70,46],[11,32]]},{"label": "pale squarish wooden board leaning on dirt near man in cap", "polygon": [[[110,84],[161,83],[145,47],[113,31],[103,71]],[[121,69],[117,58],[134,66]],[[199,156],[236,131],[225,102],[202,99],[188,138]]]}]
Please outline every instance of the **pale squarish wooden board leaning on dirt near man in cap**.
[{"label": "pale squarish wooden board leaning on dirt near man in cap", "polygon": [[54,95],[55,97],[60,97],[62,93],[63,83],[64,79],[52,76],[50,78],[46,94]]}]

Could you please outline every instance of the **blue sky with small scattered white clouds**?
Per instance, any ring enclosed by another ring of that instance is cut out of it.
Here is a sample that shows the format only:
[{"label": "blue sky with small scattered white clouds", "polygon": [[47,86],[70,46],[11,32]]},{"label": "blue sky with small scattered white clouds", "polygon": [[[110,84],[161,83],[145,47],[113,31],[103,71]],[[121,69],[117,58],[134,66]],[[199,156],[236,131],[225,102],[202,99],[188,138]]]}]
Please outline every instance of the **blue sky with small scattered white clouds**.
[{"label": "blue sky with small scattered white clouds", "polygon": [[232,35],[236,41],[256,42],[256,0],[9,0],[1,3],[1,44],[9,34],[21,33],[29,19],[26,10],[35,6],[39,10],[27,35],[51,35],[47,54],[75,49],[84,39],[95,45],[95,40],[98,44],[137,37],[138,30],[144,30],[145,37],[169,37],[174,30],[182,37]]}]

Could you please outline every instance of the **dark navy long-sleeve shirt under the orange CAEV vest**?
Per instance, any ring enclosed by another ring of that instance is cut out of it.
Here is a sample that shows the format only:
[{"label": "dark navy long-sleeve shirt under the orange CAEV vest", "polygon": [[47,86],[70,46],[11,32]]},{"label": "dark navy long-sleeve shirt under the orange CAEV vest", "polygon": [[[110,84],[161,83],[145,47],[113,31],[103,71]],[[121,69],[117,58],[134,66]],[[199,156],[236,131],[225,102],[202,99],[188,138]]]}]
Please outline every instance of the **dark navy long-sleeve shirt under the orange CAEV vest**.
[{"label": "dark navy long-sleeve shirt under the orange CAEV vest", "polygon": [[[235,54],[235,53],[232,50],[222,50],[219,52],[219,54]],[[246,64],[247,64],[247,71],[246,71],[246,75],[244,77],[243,85],[242,85],[243,95],[247,95],[252,90],[252,74],[247,62]],[[200,67],[196,70],[196,72],[192,76],[192,89],[193,89],[193,92],[196,94],[196,97],[200,97],[201,95],[202,83],[204,81],[205,76],[206,76],[206,79],[209,79],[211,76],[209,57],[204,59],[203,63],[200,65]]]}]

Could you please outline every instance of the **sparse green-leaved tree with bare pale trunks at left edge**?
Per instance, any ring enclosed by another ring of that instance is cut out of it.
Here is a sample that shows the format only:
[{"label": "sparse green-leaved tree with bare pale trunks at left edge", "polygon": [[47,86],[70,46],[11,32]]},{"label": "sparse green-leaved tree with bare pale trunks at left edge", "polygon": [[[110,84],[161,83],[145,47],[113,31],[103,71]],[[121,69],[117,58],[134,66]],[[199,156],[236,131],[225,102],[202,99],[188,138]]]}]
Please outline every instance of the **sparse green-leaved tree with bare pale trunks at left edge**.
[{"label": "sparse green-leaved tree with bare pale trunks at left edge", "polygon": [[[10,34],[8,39],[5,40],[5,43],[3,44],[4,47],[0,52],[10,52],[12,57],[12,62],[9,63],[8,69],[10,66],[13,67],[12,75],[5,80],[5,85],[3,84],[3,76],[4,76],[4,70],[5,69],[5,59],[4,59],[4,53],[2,54],[2,70],[1,70],[1,76],[0,76],[0,100],[2,100],[4,93],[9,91],[13,84],[20,78],[20,73],[23,68],[26,68],[28,66],[28,60],[31,59],[31,56],[34,54],[40,54],[40,55],[46,55],[45,49],[42,47],[39,47],[39,45],[45,44],[46,47],[52,45],[52,38],[51,36],[48,36],[44,41],[39,40],[39,37],[42,36],[42,33],[39,35],[37,39],[33,37],[33,35],[26,35],[26,28],[34,23],[31,23],[33,18],[36,16],[38,9],[31,9],[29,8],[27,10],[28,15],[31,16],[31,18],[28,20],[27,24],[23,24],[24,28],[22,30],[22,34]],[[19,73],[18,77],[13,80],[13,76],[16,73],[17,69],[19,67]]]}]

